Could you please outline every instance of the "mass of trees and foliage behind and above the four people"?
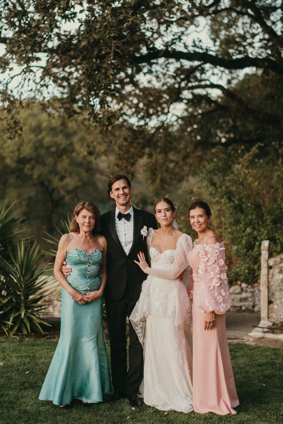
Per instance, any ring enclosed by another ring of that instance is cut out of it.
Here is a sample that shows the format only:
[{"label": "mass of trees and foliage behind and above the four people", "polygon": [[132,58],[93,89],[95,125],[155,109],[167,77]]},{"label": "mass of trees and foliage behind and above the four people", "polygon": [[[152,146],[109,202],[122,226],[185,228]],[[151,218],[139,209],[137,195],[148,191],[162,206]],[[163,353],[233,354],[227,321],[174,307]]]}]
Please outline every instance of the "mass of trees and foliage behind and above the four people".
[{"label": "mass of trees and foliage behind and above the four people", "polygon": [[47,249],[125,173],[135,206],[172,198],[193,238],[189,204],[207,201],[230,282],[257,281],[262,240],[283,251],[282,2],[2,3],[0,201],[25,235]]}]

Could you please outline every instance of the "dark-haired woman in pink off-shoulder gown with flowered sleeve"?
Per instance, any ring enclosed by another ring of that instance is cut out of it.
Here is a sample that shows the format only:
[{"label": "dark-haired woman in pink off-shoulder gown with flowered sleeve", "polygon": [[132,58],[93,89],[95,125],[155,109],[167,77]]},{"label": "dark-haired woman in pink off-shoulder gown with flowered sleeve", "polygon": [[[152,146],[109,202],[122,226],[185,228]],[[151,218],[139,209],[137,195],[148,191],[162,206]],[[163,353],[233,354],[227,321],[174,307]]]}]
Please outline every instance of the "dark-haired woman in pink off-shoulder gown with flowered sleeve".
[{"label": "dark-haired woman in pink off-shoulder gown with flowered sleeve", "polygon": [[198,241],[189,252],[193,278],[193,407],[194,412],[236,414],[239,405],[228,341],[225,312],[230,308],[225,247],[209,228],[211,211],[203,201],[189,208]]}]

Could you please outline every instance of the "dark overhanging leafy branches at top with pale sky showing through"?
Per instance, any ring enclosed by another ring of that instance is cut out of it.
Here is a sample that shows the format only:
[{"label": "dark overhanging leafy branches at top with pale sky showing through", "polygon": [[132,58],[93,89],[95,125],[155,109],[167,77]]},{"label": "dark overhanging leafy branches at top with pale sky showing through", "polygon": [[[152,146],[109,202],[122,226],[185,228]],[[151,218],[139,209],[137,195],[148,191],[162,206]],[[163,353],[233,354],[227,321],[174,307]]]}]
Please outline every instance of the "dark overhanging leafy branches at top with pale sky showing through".
[{"label": "dark overhanging leafy branches at top with pale sky showing through", "polygon": [[195,99],[204,112],[221,108],[216,89],[252,114],[235,78],[250,69],[283,75],[278,0],[1,3],[0,67],[17,64],[19,74],[16,87],[14,75],[3,81],[10,106],[9,96],[29,82],[47,108],[65,116],[85,111],[104,126],[123,120],[154,134],[182,121]]}]

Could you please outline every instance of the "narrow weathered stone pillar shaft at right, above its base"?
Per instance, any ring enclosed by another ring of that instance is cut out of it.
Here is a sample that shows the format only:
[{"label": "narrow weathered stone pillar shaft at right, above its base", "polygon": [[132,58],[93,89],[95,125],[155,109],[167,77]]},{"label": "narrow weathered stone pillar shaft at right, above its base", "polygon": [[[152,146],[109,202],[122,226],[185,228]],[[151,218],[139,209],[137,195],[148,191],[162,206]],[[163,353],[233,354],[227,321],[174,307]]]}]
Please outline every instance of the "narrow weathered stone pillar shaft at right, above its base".
[{"label": "narrow weathered stone pillar shaft at right, above its base", "polygon": [[261,243],[261,321],[268,321],[268,259],[270,257],[269,240]]}]

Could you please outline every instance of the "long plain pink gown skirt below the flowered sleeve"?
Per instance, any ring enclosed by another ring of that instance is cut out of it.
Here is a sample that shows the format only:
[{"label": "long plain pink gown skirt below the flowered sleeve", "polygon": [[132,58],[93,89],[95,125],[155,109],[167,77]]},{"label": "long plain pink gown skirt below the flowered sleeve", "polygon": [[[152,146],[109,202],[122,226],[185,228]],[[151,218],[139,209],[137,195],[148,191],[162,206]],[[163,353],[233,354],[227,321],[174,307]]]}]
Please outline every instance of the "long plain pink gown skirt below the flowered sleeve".
[{"label": "long plain pink gown skirt below the flowered sleeve", "polygon": [[233,407],[239,405],[239,399],[228,349],[225,314],[216,315],[213,329],[204,330],[205,314],[197,307],[196,291],[192,307],[194,412],[236,414]]}]

